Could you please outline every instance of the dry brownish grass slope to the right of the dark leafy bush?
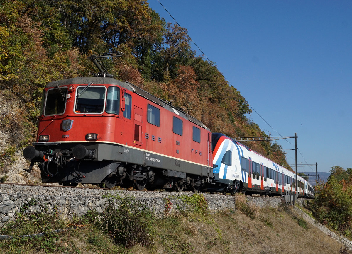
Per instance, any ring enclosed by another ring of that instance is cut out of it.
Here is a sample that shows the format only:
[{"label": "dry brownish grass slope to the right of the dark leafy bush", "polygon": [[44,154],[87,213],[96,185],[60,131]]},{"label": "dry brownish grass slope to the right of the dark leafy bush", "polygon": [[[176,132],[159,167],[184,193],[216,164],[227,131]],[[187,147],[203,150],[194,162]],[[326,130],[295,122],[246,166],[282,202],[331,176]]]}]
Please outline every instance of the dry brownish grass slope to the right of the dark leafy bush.
[{"label": "dry brownish grass slope to the right of the dark leafy bush", "polygon": [[134,247],[132,253],[352,253],[307,224],[293,211],[258,209],[250,218],[239,211],[199,217],[178,214],[157,223],[156,249]]}]

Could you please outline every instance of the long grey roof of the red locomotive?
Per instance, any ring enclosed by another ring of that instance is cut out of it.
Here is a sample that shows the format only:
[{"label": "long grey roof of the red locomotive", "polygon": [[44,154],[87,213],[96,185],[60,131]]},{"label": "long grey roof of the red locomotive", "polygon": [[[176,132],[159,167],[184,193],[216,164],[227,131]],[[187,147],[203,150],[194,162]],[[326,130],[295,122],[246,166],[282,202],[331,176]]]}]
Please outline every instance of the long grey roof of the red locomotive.
[{"label": "long grey roof of the red locomotive", "polygon": [[144,91],[143,89],[140,89],[136,85],[133,85],[129,82],[121,82],[115,78],[108,78],[108,77],[77,77],[77,78],[68,78],[66,80],[58,80],[58,81],[52,81],[49,84],[46,85],[45,88],[54,88],[57,87],[57,85],[69,85],[69,84],[76,84],[76,85],[87,85],[89,83],[93,82],[93,84],[102,84],[102,85],[119,85],[120,87],[125,88],[126,90],[132,91],[140,96],[143,96],[145,99],[150,100],[159,106],[171,111],[172,113],[175,113],[179,116],[181,116],[184,119],[187,119],[196,125],[207,129],[210,131],[204,123],[201,121],[195,119],[194,117],[182,112],[181,110],[171,106],[168,103],[163,102],[160,100],[158,97]]}]

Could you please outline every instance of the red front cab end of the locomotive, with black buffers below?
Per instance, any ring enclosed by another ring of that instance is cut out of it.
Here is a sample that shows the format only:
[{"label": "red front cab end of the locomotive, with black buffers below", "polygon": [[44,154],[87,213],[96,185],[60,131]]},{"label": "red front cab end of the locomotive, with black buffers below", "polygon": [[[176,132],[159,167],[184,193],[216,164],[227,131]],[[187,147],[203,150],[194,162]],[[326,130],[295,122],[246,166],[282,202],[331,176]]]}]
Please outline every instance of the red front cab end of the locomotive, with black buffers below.
[{"label": "red front cab end of the locomotive, with black buffers below", "polygon": [[[131,96],[123,93],[120,83],[112,78],[73,78],[46,86],[37,142],[23,152],[31,160],[30,170],[39,162],[43,182],[100,183],[113,171],[104,161],[112,159],[108,145],[94,141],[113,141],[115,129],[123,129],[131,119]],[[120,127],[117,119],[125,119]]]}]

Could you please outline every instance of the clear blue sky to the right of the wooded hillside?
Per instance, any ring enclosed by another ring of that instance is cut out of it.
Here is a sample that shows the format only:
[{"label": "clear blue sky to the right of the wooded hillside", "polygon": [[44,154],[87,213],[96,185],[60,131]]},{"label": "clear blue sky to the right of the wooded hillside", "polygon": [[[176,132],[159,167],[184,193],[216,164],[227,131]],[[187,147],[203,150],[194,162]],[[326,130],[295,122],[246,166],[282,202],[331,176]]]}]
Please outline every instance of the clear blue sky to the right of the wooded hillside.
[{"label": "clear blue sky to the right of the wooded hillside", "polygon": [[272,136],[297,133],[298,164],[352,167],[352,1],[159,1],[258,112],[249,119]]}]

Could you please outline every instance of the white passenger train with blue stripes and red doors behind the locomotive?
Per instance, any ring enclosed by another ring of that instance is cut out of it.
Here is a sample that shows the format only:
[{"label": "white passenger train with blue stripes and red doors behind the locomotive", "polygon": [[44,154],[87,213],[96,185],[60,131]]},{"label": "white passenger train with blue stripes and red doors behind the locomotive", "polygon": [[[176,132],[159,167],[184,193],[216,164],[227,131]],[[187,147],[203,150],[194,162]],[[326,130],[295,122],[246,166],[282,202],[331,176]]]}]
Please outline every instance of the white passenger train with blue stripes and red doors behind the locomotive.
[{"label": "white passenger train with blue stripes and red doors behind the locomotive", "polygon": [[[213,172],[218,191],[281,195],[283,191],[296,191],[295,173],[274,163],[221,133],[213,133]],[[228,163],[228,156],[239,161],[235,166]],[[236,172],[228,174],[229,169]],[[239,169],[239,170],[238,170]],[[314,197],[313,187],[298,176],[298,196]],[[227,188],[227,189],[226,189]],[[213,187],[215,190],[215,186]]]}]

